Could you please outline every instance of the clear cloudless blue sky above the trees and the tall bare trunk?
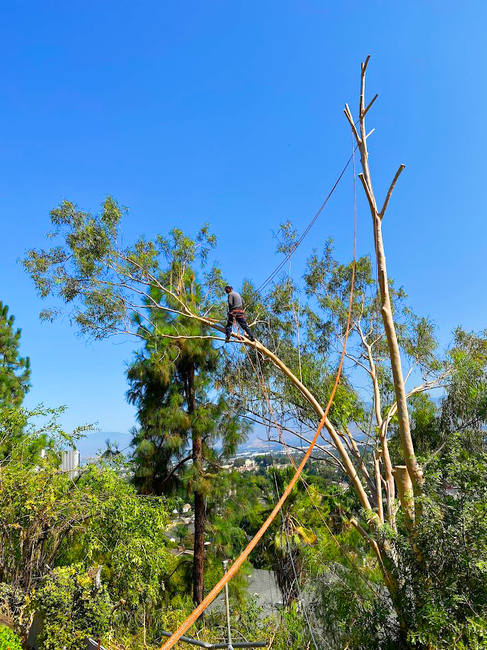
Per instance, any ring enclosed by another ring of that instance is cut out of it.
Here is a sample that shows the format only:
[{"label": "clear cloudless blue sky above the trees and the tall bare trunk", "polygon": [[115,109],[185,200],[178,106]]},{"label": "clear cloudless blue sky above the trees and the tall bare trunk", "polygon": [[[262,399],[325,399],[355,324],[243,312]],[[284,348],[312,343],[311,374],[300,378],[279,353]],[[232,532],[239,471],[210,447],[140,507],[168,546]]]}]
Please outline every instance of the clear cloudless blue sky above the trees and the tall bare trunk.
[{"label": "clear cloudless blue sky above the trees and the tall bare trunk", "polygon": [[[302,229],[350,155],[359,65],[372,55],[370,162],[380,196],[406,164],[384,224],[390,275],[442,342],[486,327],[487,8],[483,1],[348,4],[71,1],[0,11],[0,300],[31,356],[28,404],[68,404],[67,427],[127,431],[135,343],[85,345],[38,321],[16,258],[43,246],[60,199],[131,208],[127,238],[210,221],[233,285],[277,263],[271,230]],[[343,179],[293,262],[336,239],[351,255]],[[371,250],[359,204],[359,253]],[[302,251],[302,252],[301,252]]]}]

